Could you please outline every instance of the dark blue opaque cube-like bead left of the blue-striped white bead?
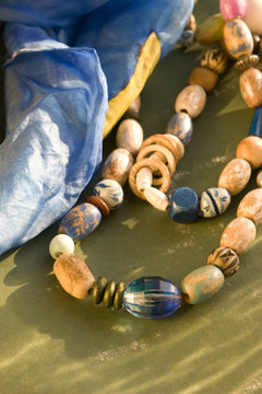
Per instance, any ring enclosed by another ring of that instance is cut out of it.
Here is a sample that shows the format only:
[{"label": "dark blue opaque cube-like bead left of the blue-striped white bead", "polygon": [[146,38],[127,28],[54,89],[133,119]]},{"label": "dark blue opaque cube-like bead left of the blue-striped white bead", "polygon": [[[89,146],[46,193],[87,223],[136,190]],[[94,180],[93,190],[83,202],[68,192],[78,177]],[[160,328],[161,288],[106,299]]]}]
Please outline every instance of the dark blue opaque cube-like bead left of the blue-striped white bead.
[{"label": "dark blue opaque cube-like bead left of the blue-striped white bead", "polygon": [[169,217],[178,223],[192,223],[199,216],[199,197],[189,187],[178,187],[171,192]]}]

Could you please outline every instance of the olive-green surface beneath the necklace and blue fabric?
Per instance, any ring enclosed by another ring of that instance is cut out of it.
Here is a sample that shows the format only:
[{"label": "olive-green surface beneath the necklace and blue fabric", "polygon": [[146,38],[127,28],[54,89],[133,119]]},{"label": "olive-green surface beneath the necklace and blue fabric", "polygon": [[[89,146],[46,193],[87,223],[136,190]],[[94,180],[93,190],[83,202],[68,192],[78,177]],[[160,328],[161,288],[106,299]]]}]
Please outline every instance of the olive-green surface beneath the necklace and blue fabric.
[{"label": "olive-green surface beneath the necklace and blue fabric", "polygon": [[[217,12],[217,1],[205,0],[195,15],[203,20],[212,12]],[[175,99],[202,50],[175,50],[157,66],[142,93],[146,136],[165,131]],[[172,186],[201,193],[217,184],[222,169],[234,159],[253,113],[240,96],[238,78],[227,72],[209,95]],[[106,157],[115,148],[114,134],[104,147]],[[255,173],[222,217],[192,224],[171,222],[126,186],[123,206],[75,252],[96,277],[129,283],[159,275],[179,285],[206,264],[240,199],[254,185]],[[48,255],[57,227],[1,257],[1,394],[262,393],[260,228],[240,258],[239,271],[218,294],[200,305],[183,304],[164,321],[144,321],[124,310],[111,312],[91,300],[75,300],[60,288]]]}]

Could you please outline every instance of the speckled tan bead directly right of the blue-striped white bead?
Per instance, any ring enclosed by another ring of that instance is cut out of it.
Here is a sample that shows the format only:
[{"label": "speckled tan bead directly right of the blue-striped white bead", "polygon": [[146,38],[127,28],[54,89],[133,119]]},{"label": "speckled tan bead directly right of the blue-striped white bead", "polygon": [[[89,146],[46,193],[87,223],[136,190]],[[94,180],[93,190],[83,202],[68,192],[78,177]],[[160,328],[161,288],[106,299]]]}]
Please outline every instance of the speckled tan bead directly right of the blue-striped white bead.
[{"label": "speckled tan bead directly right of the blue-striped white bead", "polygon": [[221,173],[218,187],[226,188],[235,196],[247,186],[251,176],[251,166],[243,159],[233,159]]}]

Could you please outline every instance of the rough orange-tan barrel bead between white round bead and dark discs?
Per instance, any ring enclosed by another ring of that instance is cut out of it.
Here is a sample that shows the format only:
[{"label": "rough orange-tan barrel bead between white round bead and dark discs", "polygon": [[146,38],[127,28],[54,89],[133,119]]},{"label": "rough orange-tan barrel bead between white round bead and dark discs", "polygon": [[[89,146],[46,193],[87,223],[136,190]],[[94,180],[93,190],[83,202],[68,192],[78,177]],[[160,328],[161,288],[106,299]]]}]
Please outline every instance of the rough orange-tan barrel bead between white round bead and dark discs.
[{"label": "rough orange-tan barrel bead between white round bead and dark discs", "polygon": [[53,264],[53,273],[69,294],[79,299],[90,296],[95,278],[79,256],[62,254]]}]

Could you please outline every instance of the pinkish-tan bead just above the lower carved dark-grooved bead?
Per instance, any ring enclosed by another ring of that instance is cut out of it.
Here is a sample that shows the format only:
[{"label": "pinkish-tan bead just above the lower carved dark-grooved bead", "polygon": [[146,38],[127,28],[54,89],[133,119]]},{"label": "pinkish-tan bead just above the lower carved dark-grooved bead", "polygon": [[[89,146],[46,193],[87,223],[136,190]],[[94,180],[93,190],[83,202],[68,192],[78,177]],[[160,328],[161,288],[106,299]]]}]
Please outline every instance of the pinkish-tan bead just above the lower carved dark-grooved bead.
[{"label": "pinkish-tan bead just above the lower carved dark-grooved bead", "polygon": [[221,246],[230,247],[237,254],[243,254],[255,239],[257,230],[252,220],[234,219],[223,231]]}]

